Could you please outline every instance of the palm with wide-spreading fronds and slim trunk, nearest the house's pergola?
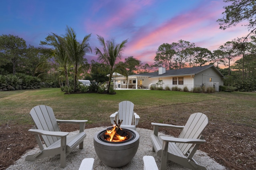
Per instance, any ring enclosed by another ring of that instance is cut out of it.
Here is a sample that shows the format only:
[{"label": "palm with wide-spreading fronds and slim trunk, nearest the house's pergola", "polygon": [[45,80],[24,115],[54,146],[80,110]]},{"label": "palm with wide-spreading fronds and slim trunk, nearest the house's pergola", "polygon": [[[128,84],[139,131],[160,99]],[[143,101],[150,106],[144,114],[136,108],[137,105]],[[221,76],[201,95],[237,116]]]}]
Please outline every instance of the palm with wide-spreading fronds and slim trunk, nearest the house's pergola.
[{"label": "palm with wide-spreading fronds and slim trunk, nearest the house's pergola", "polygon": [[106,70],[101,67],[97,67],[96,72],[105,72],[109,74],[108,79],[108,89],[107,92],[109,92],[110,89],[110,82],[112,79],[112,75],[114,72],[118,72],[123,75],[128,75],[127,70],[125,67],[125,64],[120,62],[122,59],[122,53],[124,49],[126,48],[127,39],[122,41],[120,44],[116,44],[114,39],[111,41],[108,40],[105,42],[104,38],[100,35],[98,36],[98,40],[100,42],[100,45],[102,45],[102,50],[95,47],[96,55],[98,55],[98,60],[100,63],[106,64]]}]

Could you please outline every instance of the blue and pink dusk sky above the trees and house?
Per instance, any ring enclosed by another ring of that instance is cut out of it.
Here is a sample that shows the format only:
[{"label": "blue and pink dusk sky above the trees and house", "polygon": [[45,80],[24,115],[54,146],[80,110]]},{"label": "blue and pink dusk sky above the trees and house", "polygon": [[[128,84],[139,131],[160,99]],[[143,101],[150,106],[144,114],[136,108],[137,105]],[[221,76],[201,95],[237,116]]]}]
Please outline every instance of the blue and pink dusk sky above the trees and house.
[{"label": "blue and pink dusk sky above the trees and house", "polygon": [[247,35],[247,27],[240,25],[219,29],[216,20],[226,5],[223,0],[2,0],[0,35],[18,35],[38,47],[51,33],[65,34],[68,25],[78,41],[92,33],[88,62],[97,60],[96,35],[101,35],[116,43],[128,39],[123,59],[134,56],[153,64],[163,43],[182,39],[214,51]]}]

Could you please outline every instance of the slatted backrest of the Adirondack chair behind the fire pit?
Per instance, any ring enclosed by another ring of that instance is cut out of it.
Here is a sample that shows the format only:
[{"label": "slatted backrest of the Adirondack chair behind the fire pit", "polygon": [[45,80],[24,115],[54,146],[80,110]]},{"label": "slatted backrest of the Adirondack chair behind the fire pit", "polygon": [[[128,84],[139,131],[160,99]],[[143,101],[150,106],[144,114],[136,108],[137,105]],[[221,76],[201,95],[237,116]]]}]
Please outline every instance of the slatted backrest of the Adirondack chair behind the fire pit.
[{"label": "slatted backrest of the Adirondack chair behind the fire pit", "polygon": [[133,108],[134,104],[130,101],[119,103],[117,120],[123,120],[122,125],[134,125]]}]

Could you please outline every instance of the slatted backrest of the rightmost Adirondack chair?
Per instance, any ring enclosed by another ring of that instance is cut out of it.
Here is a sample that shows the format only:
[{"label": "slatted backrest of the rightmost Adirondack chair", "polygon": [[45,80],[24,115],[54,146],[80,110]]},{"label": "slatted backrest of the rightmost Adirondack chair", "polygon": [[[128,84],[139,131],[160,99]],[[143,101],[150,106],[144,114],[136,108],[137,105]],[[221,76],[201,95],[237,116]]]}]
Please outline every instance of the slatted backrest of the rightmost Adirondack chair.
[{"label": "slatted backrest of the rightmost Adirondack chair", "polygon": [[[202,131],[208,125],[208,117],[203,113],[193,113],[190,115],[186,125],[182,129],[179,138],[183,139],[199,139]],[[187,154],[193,144],[176,143],[182,150],[183,154]]]}]

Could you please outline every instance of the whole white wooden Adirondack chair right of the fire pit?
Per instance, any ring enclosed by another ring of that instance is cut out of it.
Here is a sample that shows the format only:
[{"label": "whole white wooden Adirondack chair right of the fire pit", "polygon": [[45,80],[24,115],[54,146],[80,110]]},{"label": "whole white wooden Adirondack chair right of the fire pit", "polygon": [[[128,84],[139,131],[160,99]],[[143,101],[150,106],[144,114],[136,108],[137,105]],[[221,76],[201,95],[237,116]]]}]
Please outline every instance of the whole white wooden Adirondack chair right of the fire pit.
[{"label": "whole white wooden Adirondack chair right of the fire pit", "polygon": [[[190,115],[185,126],[168,125],[162,123],[151,123],[154,126],[154,134],[150,136],[153,145],[153,152],[156,152],[161,159],[161,170],[166,169],[167,160],[171,160],[190,168],[192,170],[206,170],[199,165],[192,157],[200,146],[205,143],[202,131],[208,125],[208,118],[203,113]],[[159,127],[182,129],[178,138],[158,136]]]}]

